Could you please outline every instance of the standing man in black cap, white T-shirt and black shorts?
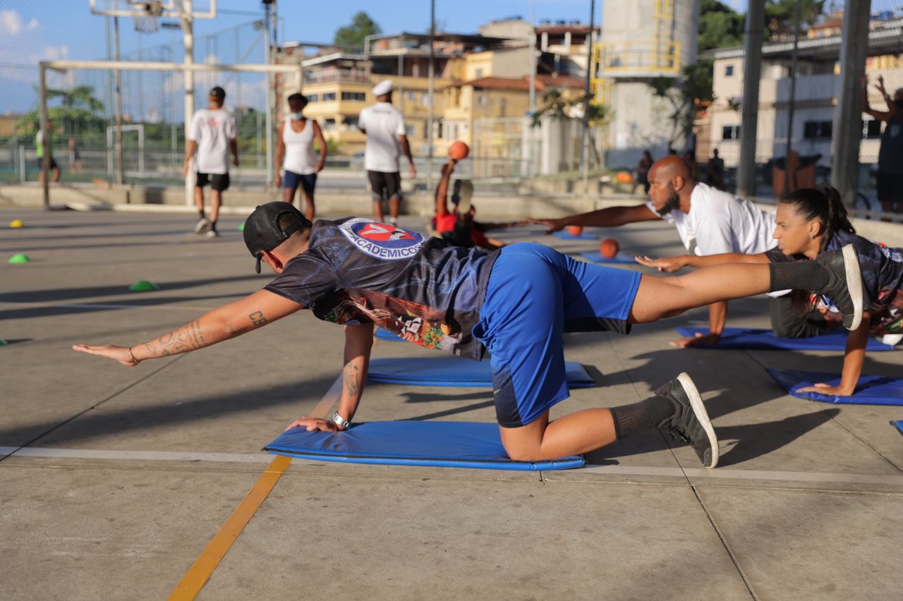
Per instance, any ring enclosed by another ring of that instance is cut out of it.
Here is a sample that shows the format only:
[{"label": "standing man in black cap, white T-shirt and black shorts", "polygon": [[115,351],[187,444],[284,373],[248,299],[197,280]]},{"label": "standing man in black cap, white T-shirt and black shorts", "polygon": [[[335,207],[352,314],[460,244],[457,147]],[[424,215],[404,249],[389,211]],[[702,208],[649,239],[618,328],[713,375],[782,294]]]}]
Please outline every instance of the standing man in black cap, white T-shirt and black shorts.
[{"label": "standing man in black cap, white T-shirt and black shorts", "polygon": [[[200,221],[194,227],[196,234],[207,233],[209,238],[219,236],[217,220],[222,204],[223,190],[228,190],[228,153],[232,151],[232,163],[238,166],[235,116],[223,110],[226,91],[213,88],[208,97],[209,106],[191,116],[188,127],[188,143],[185,144],[185,164],[182,175],[188,176],[191,157],[198,152],[195,164],[194,204]],[[210,184],[210,218],[204,214],[204,186]]]}]

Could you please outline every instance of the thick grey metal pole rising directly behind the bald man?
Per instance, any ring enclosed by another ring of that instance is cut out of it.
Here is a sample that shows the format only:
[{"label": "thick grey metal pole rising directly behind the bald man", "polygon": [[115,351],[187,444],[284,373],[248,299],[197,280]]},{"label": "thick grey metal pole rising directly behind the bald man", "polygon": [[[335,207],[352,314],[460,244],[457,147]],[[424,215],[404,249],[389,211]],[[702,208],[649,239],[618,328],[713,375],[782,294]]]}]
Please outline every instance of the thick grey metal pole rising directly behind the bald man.
[{"label": "thick grey metal pole rising directly behind the bald man", "polygon": [[746,41],[743,44],[743,99],[740,125],[740,162],[737,165],[737,193],[756,193],[756,130],[759,125],[759,79],[762,73],[762,33],[765,27],[765,0],[749,0],[746,13]]}]

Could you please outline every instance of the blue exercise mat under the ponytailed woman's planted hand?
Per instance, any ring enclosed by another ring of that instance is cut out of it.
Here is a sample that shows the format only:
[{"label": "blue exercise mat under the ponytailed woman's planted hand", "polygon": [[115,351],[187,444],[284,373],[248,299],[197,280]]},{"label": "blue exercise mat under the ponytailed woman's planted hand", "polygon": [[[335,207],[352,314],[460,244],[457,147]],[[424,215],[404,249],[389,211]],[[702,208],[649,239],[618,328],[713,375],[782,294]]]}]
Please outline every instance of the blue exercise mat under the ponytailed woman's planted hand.
[{"label": "blue exercise mat under the ponytailed woman's planted hand", "polygon": [[852,396],[836,396],[834,394],[797,393],[796,390],[819,382],[837,386],[841,383],[840,374],[772,369],[770,367],[768,374],[797,399],[851,405],[903,405],[903,380],[885,375],[862,375]]}]

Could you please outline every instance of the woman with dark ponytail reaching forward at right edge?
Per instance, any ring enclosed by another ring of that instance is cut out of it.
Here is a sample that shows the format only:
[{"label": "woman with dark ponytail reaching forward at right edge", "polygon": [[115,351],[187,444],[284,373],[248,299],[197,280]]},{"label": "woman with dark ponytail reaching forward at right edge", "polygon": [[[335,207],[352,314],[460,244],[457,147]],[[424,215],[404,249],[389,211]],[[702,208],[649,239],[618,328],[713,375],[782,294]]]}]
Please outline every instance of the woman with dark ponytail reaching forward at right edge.
[{"label": "woman with dark ponytail reaching forward at right edge", "polygon": [[[778,201],[777,247],[761,254],[688,254],[651,259],[639,264],[660,272],[681,267],[705,267],[721,263],[787,263],[815,259],[824,251],[853,245],[862,270],[864,308],[862,323],[850,332],[843,357],[839,386],[815,384],[802,389],[837,396],[851,395],[859,382],[869,335],[903,334],[903,249],[889,248],[856,235],[840,194],[830,186],[787,192]],[[830,302],[809,291],[772,293],[771,324],[777,337],[814,337],[841,326],[840,315]]]}]

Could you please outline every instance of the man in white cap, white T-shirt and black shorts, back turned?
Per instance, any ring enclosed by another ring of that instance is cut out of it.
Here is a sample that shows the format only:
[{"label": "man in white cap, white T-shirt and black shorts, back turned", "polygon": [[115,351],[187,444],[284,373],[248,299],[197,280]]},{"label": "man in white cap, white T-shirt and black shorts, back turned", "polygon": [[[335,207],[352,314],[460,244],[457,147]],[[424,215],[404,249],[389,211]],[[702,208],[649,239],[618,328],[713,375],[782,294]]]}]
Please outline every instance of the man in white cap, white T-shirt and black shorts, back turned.
[{"label": "man in white cap, white T-shirt and black shorts, back turned", "polygon": [[409,176],[417,175],[414,157],[405,134],[405,116],[392,106],[392,82],[380,81],[373,87],[377,103],[360,111],[358,129],[367,135],[364,149],[364,169],[367,170],[370,189],[373,192],[373,217],[384,221],[383,201],[388,200],[389,223],[398,223],[401,206],[401,174],[398,171],[398,156],[405,153],[411,164]]}]

